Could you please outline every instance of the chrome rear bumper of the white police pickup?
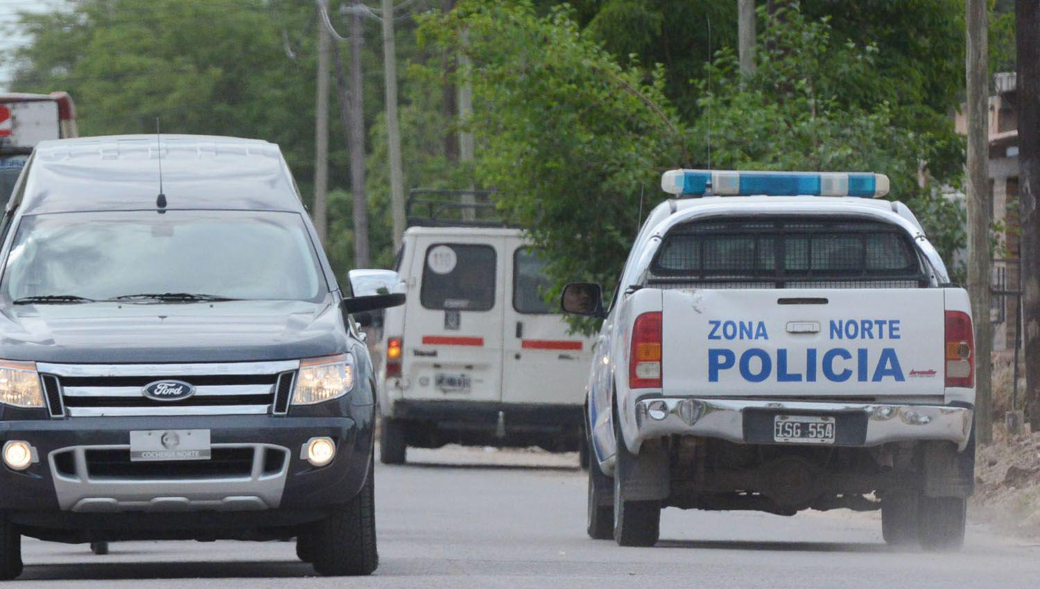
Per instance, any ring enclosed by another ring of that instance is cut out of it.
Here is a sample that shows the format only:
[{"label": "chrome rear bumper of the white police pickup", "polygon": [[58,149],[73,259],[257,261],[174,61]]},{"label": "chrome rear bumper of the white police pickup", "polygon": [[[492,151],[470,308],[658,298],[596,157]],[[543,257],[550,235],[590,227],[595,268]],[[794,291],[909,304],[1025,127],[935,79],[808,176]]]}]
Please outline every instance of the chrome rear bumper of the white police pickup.
[{"label": "chrome rear bumper of the white police pickup", "polygon": [[[666,409],[660,409],[664,402]],[[651,405],[658,410],[651,410]],[[763,418],[785,413],[834,416],[849,424],[834,446],[870,447],[889,441],[948,440],[963,451],[973,411],[965,407],[890,403],[816,403],[650,397],[635,402],[635,444],[667,435],[718,437],[735,443],[772,443],[761,434]],[[840,423],[840,422],[839,422]],[[840,425],[839,425],[840,427]]]}]

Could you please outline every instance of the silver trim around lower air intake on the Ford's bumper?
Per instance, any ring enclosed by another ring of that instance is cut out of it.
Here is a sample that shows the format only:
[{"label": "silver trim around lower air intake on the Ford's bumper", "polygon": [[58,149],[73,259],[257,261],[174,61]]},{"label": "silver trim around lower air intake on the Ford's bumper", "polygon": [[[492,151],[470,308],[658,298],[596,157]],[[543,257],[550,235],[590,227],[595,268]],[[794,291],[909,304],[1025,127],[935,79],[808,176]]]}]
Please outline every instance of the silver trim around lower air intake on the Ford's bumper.
[{"label": "silver trim around lower air intake on the Ford's bumper", "polygon": [[[271,444],[214,444],[211,448],[251,448],[254,459],[248,475],[206,478],[92,478],[87,450],[129,450],[129,445],[74,446],[48,454],[51,478],[62,511],[253,511],[276,509],[288,478],[289,449]],[[287,459],[277,473],[264,473],[265,449],[281,450]],[[75,474],[58,471],[55,455],[72,451]]]}]

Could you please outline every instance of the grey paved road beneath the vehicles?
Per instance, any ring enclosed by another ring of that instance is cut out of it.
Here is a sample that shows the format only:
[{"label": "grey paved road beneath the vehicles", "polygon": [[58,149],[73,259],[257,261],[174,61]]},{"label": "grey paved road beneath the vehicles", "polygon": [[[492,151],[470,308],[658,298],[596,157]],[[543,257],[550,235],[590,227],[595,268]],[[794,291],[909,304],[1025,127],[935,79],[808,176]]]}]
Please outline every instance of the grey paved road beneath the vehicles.
[{"label": "grey paved road beneath the vehicles", "polygon": [[[18,586],[177,587],[1034,587],[1040,545],[971,527],[956,555],[891,552],[873,514],[665,510],[653,548],[584,534],[586,480],[574,455],[410,451],[376,470],[381,564],[367,579],[323,579],[288,542],[26,540]],[[236,581],[243,578],[242,581]]]}]

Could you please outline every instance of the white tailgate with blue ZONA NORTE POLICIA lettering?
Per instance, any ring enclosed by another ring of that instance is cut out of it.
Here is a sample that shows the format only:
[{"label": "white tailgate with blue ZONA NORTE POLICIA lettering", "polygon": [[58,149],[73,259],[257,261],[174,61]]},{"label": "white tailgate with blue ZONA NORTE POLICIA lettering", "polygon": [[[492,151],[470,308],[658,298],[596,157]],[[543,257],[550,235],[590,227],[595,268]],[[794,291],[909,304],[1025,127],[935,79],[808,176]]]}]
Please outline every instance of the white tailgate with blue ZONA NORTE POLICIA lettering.
[{"label": "white tailgate with blue ZONA NORTE POLICIA lettering", "polygon": [[942,289],[666,290],[662,299],[668,395],[944,392]]}]

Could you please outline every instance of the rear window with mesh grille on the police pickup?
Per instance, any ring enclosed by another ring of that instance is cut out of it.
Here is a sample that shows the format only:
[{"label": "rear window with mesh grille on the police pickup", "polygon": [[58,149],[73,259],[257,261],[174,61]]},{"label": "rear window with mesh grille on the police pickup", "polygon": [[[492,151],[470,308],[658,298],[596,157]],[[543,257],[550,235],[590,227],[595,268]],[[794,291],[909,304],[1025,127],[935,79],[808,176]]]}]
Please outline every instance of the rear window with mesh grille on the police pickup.
[{"label": "rear window with mesh grille on the police pickup", "polygon": [[650,267],[650,284],[677,288],[927,287],[901,227],[840,219],[734,218],[674,227]]}]

